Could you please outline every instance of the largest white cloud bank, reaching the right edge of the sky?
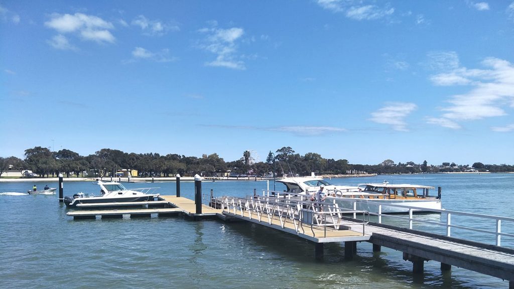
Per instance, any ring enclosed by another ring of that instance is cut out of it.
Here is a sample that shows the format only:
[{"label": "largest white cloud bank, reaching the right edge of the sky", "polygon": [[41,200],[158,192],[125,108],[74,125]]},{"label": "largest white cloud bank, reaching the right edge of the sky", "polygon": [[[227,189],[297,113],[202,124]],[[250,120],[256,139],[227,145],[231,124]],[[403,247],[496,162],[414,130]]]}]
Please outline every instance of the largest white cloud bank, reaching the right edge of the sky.
[{"label": "largest white cloud bank, reaching the right edge of the sky", "polygon": [[514,65],[497,58],[482,65],[488,69],[460,67],[431,76],[436,85],[470,85],[468,92],[449,98],[450,105],[441,109],[443,118],[458,122],[505,116],[506,104],[514,107]]}]

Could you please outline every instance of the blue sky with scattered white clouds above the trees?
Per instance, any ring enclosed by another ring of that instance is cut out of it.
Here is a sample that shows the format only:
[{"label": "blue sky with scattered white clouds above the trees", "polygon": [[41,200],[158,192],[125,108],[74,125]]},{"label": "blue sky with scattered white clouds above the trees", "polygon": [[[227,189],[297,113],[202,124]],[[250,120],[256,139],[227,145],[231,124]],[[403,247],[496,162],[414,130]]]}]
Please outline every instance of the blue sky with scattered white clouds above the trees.
[{"label": "blue sky with scattered white clouds above the trees", "polygon": [[512,1],[1,1],[0,156],[514,164]]}]

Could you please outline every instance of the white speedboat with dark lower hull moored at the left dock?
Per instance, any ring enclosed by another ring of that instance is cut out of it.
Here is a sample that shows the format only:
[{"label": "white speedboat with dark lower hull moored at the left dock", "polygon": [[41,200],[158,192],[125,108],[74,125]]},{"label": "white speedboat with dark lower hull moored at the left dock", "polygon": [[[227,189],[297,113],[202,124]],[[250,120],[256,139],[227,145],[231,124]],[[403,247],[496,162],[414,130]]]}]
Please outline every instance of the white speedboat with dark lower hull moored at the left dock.
[{"label": "white speedboat with dark lower hull moored at the left dock", "polygon": [[85,195],[80,192],[73,197],[65,196],[64,204],[68,208],[74,208],[77,204],[92,203],[123,203],[123,202],[142,202],[153,201],[159,194],[150,193],[157,188],[127,189],[122,184],[116,182],[98,181],[100,195]]}]

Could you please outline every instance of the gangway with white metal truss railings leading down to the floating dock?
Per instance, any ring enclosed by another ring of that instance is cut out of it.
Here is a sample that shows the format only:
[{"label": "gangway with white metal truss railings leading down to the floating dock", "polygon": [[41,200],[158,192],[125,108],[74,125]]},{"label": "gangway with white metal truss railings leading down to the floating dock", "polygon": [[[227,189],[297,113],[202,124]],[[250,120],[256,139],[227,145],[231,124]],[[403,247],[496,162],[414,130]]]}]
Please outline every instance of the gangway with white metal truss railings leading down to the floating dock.
[{"label": "gangway with white metal truss railings leading down to the floating dock", "polygon": [[[343,219],[344,214],[355,213],[360,216],[358,222],[362,224],[362,236],[365,234],[365,225],[369,222],[368,211],[339,208],[337,205],[324,202],[259,195],[224,196],[215,199],[211,205],[220,205],[223,210],[233,215],[256,218],[259,222],[267,222],[269,225],[278,224],[282,229],[287,224],[292,224],[297,234],[304,234],[305,229],[310,229],[313,236],[322,238],[327,237],[327,229],[339,230],[341,226],[347,225],[347,220]],[[322,236],[319,236],[320,233]]]}]

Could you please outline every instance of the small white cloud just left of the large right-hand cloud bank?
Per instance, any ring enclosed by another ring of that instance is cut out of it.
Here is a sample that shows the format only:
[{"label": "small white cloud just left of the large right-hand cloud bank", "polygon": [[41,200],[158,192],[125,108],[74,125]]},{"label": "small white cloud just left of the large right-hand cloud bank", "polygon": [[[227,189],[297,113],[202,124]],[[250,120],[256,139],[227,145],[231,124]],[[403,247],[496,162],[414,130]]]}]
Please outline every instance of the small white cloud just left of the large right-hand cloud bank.
[{"label": "small white cloud just left of the large right-hand cloud bank", "polygon": [[371,121],[390,124],[396,131],[409,131],[405,118],[417,109],[417,105],[409,102],[391,102],[378,111],[371,113]]}]

